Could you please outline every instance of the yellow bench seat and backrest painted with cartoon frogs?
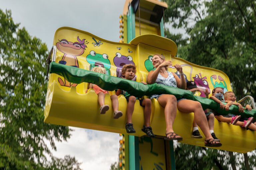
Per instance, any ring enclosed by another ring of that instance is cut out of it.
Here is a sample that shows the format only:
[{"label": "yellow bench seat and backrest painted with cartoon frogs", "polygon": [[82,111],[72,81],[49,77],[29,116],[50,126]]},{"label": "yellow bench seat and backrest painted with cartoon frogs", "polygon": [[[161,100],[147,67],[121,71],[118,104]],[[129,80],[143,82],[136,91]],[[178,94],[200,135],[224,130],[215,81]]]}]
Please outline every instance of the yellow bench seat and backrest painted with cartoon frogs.
[{"label": "yellow bench seat and backrest painted with cartoon frogs", "polygon": [[[211,90],[215,86],[224,86],[227,90],[231,90],[229,78],[225,73],[174,57],[177,52],[176,44],[160,36],[142,35],[127,44],[110,42],[84,31],[63,27],[56,31],[53,44],[58,48],[56,62],[82,69],[104,66],[107,69],[107,74],[120,76],[120,68],[124,63],[134,63],[138,69],[136,81],[146,81],[148,72],[154,69],[153,65],[150,65],[150,56],[159,53],[166,59],[172,60],[173,64],[182,65],[187,80],[195,80],[202,85],[201,88]],[[172,67],[169,70],[176,72]],[[50,74],[44,122],[128,134],[125,130],[127,101],[124,96],[120,95],[118,98],[119,110],[123,112],[123,116],[115,120],[112,107],[105,115],[100,115],[98,96],[92,89],[86,92],[87,87],[88,83],[75,85],[65,81],[57,74]],[[115,94],[115,92],[111,92],[111,94]],[[111,106],[108,94],[105,97],[105,103]],[[136,130],[136,133],[133,134],[135,136],[145,135],[141,131],[144,124],[143,109],[137,100],[132,116]],[[192,113],[185,114],[177,111],[173,128],[183,137],[181,142],[204,146],[203,138],[190,137],[193,117]],[[164,108],[156,99],[152,99],[150,125],[156,135],[165,136]],[[254,131],[219,123],[217,120],[215,120],[214,131],[223,144],[219,149],[245,153],[256,148]],[[201,134],[203,133],[201,132]]]}]

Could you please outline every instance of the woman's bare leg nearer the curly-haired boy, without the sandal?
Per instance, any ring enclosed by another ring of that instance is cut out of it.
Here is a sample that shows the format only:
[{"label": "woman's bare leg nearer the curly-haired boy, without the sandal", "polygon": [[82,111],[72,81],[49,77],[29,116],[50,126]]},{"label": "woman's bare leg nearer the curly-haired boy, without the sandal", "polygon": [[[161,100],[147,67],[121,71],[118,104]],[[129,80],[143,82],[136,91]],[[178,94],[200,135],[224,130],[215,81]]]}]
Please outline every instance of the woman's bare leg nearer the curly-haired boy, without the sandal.
[{"label": "woman's bare leg nearer the curly-haired boy, without the sandal", "polygon": [[[166,123],[166,133],[173,131],[173,122],[177,113],[177,99],[173,95],[163,94],[157,99],[159,104],[164,107],[165,123]],[[169,136],[167,136],[169,137]],[[180,136],[177,136],[180,137]]]}]

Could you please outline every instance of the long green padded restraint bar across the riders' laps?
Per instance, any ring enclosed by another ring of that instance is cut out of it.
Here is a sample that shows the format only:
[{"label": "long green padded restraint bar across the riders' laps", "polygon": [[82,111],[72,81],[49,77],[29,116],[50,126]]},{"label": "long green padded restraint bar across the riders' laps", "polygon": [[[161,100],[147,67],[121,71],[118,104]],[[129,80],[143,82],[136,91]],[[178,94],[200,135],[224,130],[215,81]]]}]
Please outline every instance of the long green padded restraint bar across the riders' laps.
[{"label": "long green padded restraint bar across the riders' laps", "polygon": [[[254,117],[256,119],[256,110],[247,111],[244,113],[238,112],[238,107],[232,105],[229,107],[229,111],[220,109],[220,105],[215,101],[200,96],[194,96],[189,90],[183,90],[175,87],[165,86],[161,84],[148,84],[122,79],[119,77],[110,76],[107,74],[101,74],[93,71],[84,70],[81,68],[75,68],[55,62],[50,63],[50,73],[56,73],[63,76],[69,82],[82,83],[88,82],[98,85],[100,88],[107,91],[114,91],[115,89],[122,89],[130,93],[135,97],[151,96],[153,94],[172,94],[177,99],[189,99],[198,101],[201,103],[203,109],[212,109],[221,115],[228,115],[232,113],[234,115],[241,115],[242,117],[249,118]],[[224,103],[224,102],[223,102]],[[226,104],[226,103],[224,103]]]}]

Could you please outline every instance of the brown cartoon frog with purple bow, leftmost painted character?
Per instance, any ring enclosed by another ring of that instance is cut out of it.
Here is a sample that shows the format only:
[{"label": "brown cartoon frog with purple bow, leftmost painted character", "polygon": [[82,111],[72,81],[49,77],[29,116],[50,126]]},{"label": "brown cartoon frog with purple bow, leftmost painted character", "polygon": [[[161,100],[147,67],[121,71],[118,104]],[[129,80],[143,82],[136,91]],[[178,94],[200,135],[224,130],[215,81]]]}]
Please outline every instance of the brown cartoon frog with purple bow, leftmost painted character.
[{"label": "brown cartoon frog with purple bow, leftmost painted character", "polygon": [[[64,53],[62,59],[59,61],[60,64],[79,68],[76,56],[84,53],[85,47],[87,47],[85,44],[88,44],[89,42],[85,42],[86,39],[80,40],[79,37],[77,37],[77,40],[78,42],[69,42],[66,39],[62,39],[60,42],[56,43],[58,50]],[[63,81],[60,77],[58,77],[58,81],[61,86],[71,87],[77,85],[68,82],[66,79]]]}]

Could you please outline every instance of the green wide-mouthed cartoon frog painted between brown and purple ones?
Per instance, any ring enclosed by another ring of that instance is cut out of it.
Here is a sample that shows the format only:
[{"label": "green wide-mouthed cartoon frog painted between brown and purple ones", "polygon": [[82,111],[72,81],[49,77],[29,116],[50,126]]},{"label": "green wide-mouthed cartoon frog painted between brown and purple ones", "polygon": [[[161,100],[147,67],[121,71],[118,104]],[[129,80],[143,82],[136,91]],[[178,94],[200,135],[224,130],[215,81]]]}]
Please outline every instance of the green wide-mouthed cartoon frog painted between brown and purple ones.
[{"label": "green wide-mouthed cartoon frog painted between brown and purple ones", "polygon": [[90,51],[90,54],[86,56],[86,61],[90,64],[90,70],[93,67],[104,67],[106,74],[110,75],[110,61],[107,54],[98,54],[95,51]]}]

